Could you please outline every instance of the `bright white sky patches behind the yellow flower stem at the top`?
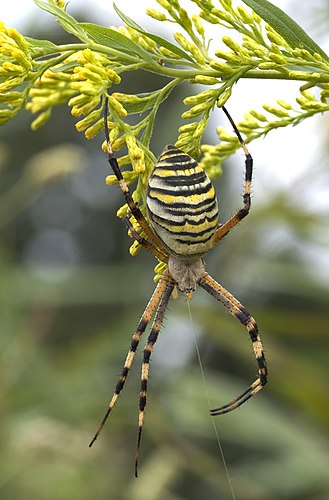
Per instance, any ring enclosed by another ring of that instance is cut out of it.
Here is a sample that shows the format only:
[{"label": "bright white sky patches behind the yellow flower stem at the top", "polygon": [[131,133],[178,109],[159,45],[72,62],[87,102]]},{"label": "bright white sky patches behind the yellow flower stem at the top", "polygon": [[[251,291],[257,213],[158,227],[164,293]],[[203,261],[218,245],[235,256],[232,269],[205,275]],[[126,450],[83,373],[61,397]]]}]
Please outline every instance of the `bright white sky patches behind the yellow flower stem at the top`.
[{"label": "bright white sky patches behind the yellow flower stem at the top", "polygon": [[[325,5],[326,0],[322,0],[322,2]],[[216,0],[214,0],[214,3],[216,4]],[[329,36],[327,35],[325,39],[321,38],[317,33],[320,26],[319,19],[315,19],[313,25],[310,24],[312,16],[310,10],[307,10],[307,4],[303,6],[303,3],[297,0],[273,0],[273,3],[300,23],[324,50],[329,49]],[[145,15],[147,7],[161,10],[155,0],[117,0],[117,4],[121,10],[124,10],[125,13],[143,26],[150,27],[159,24]],[[195,5],[191,1],[181,0],[181,4],[189,12],[195,11]],[[314,2],[314,11],[319,5],[321,5],[321,0]],[[94,13],[97,12],[104,26],[122,24],[113,10],[112,0],[71,0],[68,12],[73,12],[74,8],[82,6],[87,9],[86,11],[88,9],[91,11],[91,19],[86,19],[86,21],[95,20]],[[137,9],[136,6],[138,6]],[[52,16],[41,11],[33,0],[2,0],[0,19],[6,25],[22,30],[23,34],[24,25],[31,19],[34,22],[37,20],[37,23],[49,23],[50,30],[52,29],[52,23],[54,23]],[[168,23],[161,26],[162,29],[165,27],[168,30],[170,29]],[[158,26],[151,29],[155,31]],[[213,38],[216,39],[216,37],[218,37],[218,34],[214,33]],[[234,120],[238,122],[244,112],[251,108],[261,110],[263,103],[275,105],[275,101],[279,97],[294,104],[299,85],[298,82],[243,80],[235,86],[228,108]],[[282,88],[282,92],[280,92],[280,88]],[[219,118],[216,119],[219,116],[218,113],[220,113],[219,110],[215,112],[213,118],[214,128],[219,124]],[[227,128],[230,129],[229,126]],[[250,150],[256,166],[254,192],[257,193],[257,199],[262,199],[262,197],[266,199],[271,193],[275,193],[276,190],[280,190],[282,187],[293,190],[295,184],[298,183],[298,179],[306,177],[312,180],[312,192],[305,192],[305,197],[300,200],[300,203],[306,203],[311,209],[320,207],[323,210],[328,210],[328,175],[325,177],[327,182],[324,182],[323,173],[319,176],[318,182],[316,177],[319,164],[326,167],[328,172],[329,159],[324,157],[323,154],[323,144],[327,144],[328,147],[328,130],[328,116],[318,115],[302,122],[297,127],[279,129],[271,132],[265,139],[254,141],[250,146]],[[216,136],[214,136],[215,140]],[[243,162],[242,153],[240,157],[237,155],[237,161]],[[312,171],[310,171],[311,168]],[[328,233],[327,236],[323,237],[325,241],[328,241]],[[323,265],[325,265],[326,269],[329,268],[327,254],[328,252],[324,252],[323,256],[315,258],[319,269],[323,268]]]}]

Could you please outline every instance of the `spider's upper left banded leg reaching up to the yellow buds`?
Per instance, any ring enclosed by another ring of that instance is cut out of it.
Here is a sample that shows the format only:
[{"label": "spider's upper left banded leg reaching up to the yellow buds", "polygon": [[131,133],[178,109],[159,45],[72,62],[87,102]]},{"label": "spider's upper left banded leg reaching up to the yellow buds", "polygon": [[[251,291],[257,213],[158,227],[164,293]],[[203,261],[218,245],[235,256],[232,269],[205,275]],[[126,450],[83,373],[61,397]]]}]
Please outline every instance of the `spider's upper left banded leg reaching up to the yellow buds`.
[{"label": "spider's upper left banded leg reaching up to the yellow buds", "polygon": [[120,167],[118,165],[118,161],[113,154],[113,150],[110,144],[110,136],[109,136],[109,128],[107,124],[107,117],[108,117],[108,99],[105,99],[104,102],[104,130],[105,130],[105,139],[106,139],[106,145],[107,145],[107,153],[108,153],[108,162],[111,166],[111,169],[113,170],[114,175],[118,179],[120,189],[123,193],[123,196],[126,200],[126,203],[131,211],[131,214],[133,217],[137,220],[138,224],[141,226],[143,229],[144,233],[148,237],[152,243],[157,246],[159,249],[163,250],[165,253],[165,248],[163,246],[162,241],[160,238],[156,236],[156,234],[153,233],[151,230],[147,220],[145,219],[144,215],[138,208],[137,204],[135,203],[133,197],[131,196],[131,193],[129,191],[129,187],[125,179],[123,178],[122,172],[120,170]]}]

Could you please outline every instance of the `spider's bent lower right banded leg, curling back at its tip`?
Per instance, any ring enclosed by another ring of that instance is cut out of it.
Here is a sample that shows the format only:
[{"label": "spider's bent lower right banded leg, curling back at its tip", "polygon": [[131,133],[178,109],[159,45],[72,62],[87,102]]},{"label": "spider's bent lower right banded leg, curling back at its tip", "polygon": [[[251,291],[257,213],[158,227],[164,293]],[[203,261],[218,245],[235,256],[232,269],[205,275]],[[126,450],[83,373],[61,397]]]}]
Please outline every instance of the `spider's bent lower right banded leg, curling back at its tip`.
[{"label": "spider's bent lower right banded leg, curling back at its tip", "polygon": [[233,297],[233,295],[225,290],[224,287],[217,283],[217,281],[215,281],[207,273],[204,273],[204,275],[200,278],[198,284],[204,290],[206,290],[206,292],[215,297],[216,300],[221,302],[232,316],[237,318],[243,325],[247,327],[258,365],[259,377],[248,387],[245,392],[240,394],[237,398],[233,399],[226,405],[214,408],[210,411],[212,416],[222,415],[223,413],[228,413],[241,406],[249,398],[257,394],[257,392],[259,392],[266,384],[267,366],[264,356],[264,349],[258,333],[256,321],[245,309],[245,307],[235,297]]}]

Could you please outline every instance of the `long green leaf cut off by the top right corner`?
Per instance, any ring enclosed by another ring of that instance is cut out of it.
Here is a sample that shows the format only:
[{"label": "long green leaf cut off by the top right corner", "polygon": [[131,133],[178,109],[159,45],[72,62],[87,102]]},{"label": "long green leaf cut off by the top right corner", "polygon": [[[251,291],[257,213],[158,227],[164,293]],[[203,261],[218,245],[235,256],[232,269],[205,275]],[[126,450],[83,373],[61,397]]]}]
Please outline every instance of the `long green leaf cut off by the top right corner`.
[{"label": "long green leaf cut off by the top right corner", "polygon": [[243,0],[256,14],[269,24],[291,47],[317,52],[326,60],[328,55],[308,36],[291,17],[267,0]]}]

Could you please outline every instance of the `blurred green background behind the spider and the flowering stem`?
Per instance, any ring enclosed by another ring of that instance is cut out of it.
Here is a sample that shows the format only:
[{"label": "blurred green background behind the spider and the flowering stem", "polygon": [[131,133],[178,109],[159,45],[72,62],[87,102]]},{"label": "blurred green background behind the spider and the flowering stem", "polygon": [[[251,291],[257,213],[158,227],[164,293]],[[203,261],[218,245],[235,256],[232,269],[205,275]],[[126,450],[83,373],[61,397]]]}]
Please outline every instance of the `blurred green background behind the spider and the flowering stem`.
[{"label": "blurred green background behind the spider and the flowering stem", "polygon": [[[43,29],[24,33],[48,37]],[[136,74],[122,89],[162,83]],[[161,110],[156,154],[175,140],[189,94],[180,89]],[[239,106],[241,115],[250,108],[245,98]],[[269,364],[263,393],[214,419],[244,500],[329,498],[329,119],[317,120],[318,133],[306,140],[286,129],[253,143],[252,212],[207,257],[208,271],[257,319]],[[154,288],[155,261],[128,254],[131,241],[115,217],[120,192],[104,182],[102,138],[84,140],[64,108],[37,133],[30,121],[21,113],[0,130],[0,498],[232,498],[208,408],[244,390],[256,363],[246,330],[202,290],[191,309],[210,403],[181,297],[171,301],[152,355],[139,479],[140,357],[88,448]],[[220,113],[205,142],[216,141],[219,122],[227,126]],[[258,157],[258,148],[266,154]],[[294,151],[304,166],[291,174]],[[222,221],[241,204],[242,180],[238,153],[216,181]]]}]

